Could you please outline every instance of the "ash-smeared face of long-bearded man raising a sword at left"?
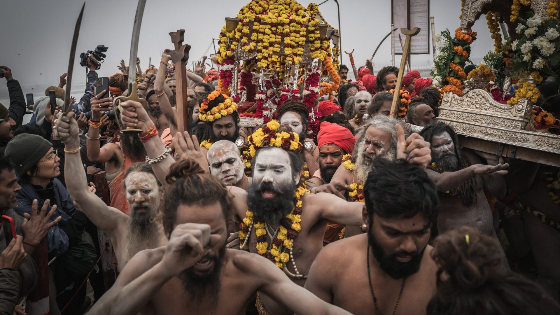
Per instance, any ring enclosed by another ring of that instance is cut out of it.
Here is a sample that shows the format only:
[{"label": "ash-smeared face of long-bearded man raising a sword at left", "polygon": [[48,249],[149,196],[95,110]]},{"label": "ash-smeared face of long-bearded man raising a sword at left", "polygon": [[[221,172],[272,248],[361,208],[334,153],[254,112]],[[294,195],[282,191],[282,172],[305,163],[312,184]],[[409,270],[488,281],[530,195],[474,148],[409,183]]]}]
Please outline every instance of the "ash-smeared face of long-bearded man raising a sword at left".
[{"label": "ash-smeared face of long-bearded man raising a sword at left", "polygon": [[151,173],[133,172],[124,179],[124,184],[130,216],[155,217],[161,196],[156,177]]}]

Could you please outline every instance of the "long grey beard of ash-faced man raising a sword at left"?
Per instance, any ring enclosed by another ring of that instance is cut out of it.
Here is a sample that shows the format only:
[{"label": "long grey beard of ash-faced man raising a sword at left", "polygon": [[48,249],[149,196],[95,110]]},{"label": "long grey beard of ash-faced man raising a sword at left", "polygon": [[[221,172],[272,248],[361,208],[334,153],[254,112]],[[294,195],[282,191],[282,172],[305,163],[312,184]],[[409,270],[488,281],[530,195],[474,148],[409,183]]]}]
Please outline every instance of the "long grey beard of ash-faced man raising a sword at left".
[{"label": "long grey beard of ash-faced man raising a sword at left", "polygon": [[138,224],[132,217],[128,220],[128,244],[127,250],[130,257],[139,251],[148,248],[156,248],[160,240],[160,225],[150,219],[147,224]]}]

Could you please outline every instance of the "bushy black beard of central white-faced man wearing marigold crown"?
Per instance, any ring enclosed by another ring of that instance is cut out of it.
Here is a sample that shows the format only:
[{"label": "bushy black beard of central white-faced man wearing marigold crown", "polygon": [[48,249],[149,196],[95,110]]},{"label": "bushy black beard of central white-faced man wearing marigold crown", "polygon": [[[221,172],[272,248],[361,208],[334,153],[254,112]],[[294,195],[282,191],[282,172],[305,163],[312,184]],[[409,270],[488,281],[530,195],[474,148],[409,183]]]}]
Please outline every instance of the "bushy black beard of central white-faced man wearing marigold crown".
[{"label": "bushy black beard of central white-faced man wearing marigold crown", "polygon": [[[258,186],[254,183],[251,183],[247,191],[247,205],[255,217],[258,217],[259,222],[274,224],[295,207],[293,203],[293,192],[296,191],[295,183],[290,182],[286,187],[278,187],[277,184],[268,182],[260,182]],[[265,189],[276,192],[276,198],[264,198],[262,192]]]}]

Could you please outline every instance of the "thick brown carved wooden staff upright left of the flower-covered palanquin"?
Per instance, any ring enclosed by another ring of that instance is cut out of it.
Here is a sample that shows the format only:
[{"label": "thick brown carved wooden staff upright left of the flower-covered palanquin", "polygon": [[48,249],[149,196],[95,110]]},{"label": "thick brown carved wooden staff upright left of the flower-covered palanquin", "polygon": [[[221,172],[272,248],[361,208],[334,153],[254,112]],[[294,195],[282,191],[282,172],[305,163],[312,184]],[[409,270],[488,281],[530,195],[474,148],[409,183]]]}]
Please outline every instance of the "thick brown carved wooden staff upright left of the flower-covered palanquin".
[{"label": "thick brown carved wooden staff upright left of the flower-covered palanquin", "polygon": [[175,81],[177,95],[177,129],[180,132],[189,131],[189,107],[187,103],[186,62],[189,61],[190,45],[183,44],[185,30],[169,33],[175,50],[171,50],[171,61],[175,63]]}]

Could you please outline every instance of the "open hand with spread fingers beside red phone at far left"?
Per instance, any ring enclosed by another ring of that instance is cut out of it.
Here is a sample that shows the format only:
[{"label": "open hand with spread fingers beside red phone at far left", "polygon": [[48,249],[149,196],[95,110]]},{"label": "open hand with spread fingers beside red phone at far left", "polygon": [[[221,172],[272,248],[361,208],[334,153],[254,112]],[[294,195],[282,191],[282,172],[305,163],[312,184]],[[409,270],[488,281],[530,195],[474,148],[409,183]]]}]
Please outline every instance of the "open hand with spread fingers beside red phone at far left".
[{"label": "open hand with spread fingers beside red phone at far left", "polygon": [[50,208],[50,200],[45,200],[43,207],[41,207],[41,212],[37,213],[37,200],[35,199],[31,205],[31,215],[24,214],[25,219],[21,224],[21,230],[25,234],[25,243],[37,247],[41,240],[45,238],[45,235],[49,232],[50,228],[58,225],[60,221],[60,216],[49,222],[50,218],[53,217],[55,211],[57,210],[57,205]]}]

